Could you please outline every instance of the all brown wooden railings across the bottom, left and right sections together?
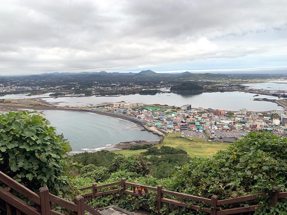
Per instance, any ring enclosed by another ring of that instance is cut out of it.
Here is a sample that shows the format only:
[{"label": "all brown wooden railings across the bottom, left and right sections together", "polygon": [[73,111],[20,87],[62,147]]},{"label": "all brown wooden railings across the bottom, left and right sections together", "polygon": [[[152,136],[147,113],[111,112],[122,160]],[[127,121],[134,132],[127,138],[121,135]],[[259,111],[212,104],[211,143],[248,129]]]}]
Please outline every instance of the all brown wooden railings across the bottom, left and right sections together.
[{"label": "all brown wooden railings across the bottom, left and right sections together", "polygon": [[[21,215],[21,212],[28,215],[63,215],[60,212],[57,212],[52,209],[52,205],[58,205],[63,208],[66,208],[67,210],[70,210],[75,215],[84,215],[85,212],[90,212],[92,215],[100,215],[100,213],[95,210],[94,208],[90,207],[88,204],[84,202],[84,199],[91,201],[93,198],[96,198],[97,196],[103,196],[103,195],[114,195],[114,200],[116,198],[123,199],[124,194],[128,195],[135,195],[132,190],[127,189],[127,187],[132,186],[140,186],[145,187],[148,190],[154,191],[157,193],[154,198],[157,199],[157,209],[160,211],[164,204],[166,204],[166,214],[169,214],[170,211],[174,210],[187,210],[187,211],[195,211],[197,214],[197,211],[202,211],[207,214],[211,215],[226,215],[226,214],[252,214],[257,208],[259,208],[260,204],[254,204],[249,207],[236,207],[236,208],[230,208],[230,209],[224,209],[220,210],[221,207],[226,204],[234,204],[239,202],[246,202],[246,201],[252,201],[259,199],[261,197],[266,198],[267,195],[265,193],[257,193],[253,195],[247,195],[242,197],[236,197],[236,198],[230,198],[230,199],[223,199],[218,200],[218,197],[216,195],[213,195],[210,199],[209,198],[203,198],[199,196],[194,195],[187,195],[184,193],[178,193],[174,191],[164,190],[162,185],[158,185],[157,187],[150,187],[150,186],[144,186],[139,185],[135,183],[129,183],[126,181],[125,178],[123,178],[121,181],[104,184],[104,185],[97,185],[96,183],[92,184],[92,186],[80,188],[79,190],[84,191],[91,189],[92,192],[86,193],[83,195],[78,195],[74,199],[74,203],[69,202],[65,199],[62,199],[60,197],[57,197],[51,193],[49,193],[49,189],[47,187],[41,187],[39,189],[39,194],[32,192],[31,190],[27,189],[17,181],[13,180],[9,176],[5,175],[0,171],[0,181],[3,182],[7,187],[3,188],[0,187],[0,199],[2,199],[6,204],[6,212],[7,215],[16,214]],[[112,186],[119,186],[117,189],[111,189],[107,191],[101,191],[99,192],[99,189],[106,188],[106,187],[112,187]],[[16,195],[13,195],[11,192],[9,192],[10,189],[13,189],[17,191],[18,193],[21,193],[24,195],[27,199],[31,200],[35,203],[36,206],[31,206],[24,200],[20,199]],[[116,196],[116,194],[118,195]],[[169,197],[169,198],[168,198]],[[178,201],[174,200],[174,197],[179,197],[181,199],[189,199],[193,200],[195,202],[199,202],[203,206],[199,206],[196,204],[187,204],[184,201]],[[272,195],[271,199],[271,206],[275,206],[276,202],[278,202],[281,198],[286,198],[287,192],[278,192],[278,187],[274,187],[274,193]],[[133,200],[134,201],[134,200]],[[225,207],[227,208],[227,207]]]}]

